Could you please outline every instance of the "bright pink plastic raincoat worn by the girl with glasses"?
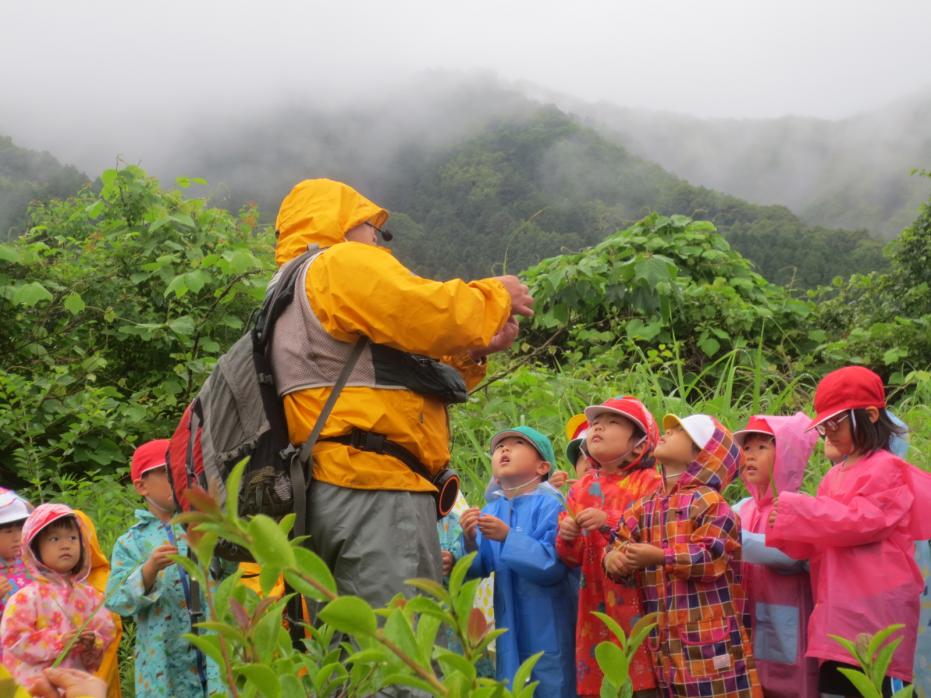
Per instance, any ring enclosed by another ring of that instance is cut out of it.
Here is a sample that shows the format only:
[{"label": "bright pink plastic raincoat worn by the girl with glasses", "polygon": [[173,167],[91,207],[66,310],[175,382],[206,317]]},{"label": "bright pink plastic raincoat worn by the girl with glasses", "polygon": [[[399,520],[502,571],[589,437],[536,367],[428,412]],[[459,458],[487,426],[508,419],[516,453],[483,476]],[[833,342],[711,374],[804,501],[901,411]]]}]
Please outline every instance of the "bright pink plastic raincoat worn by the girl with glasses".
[{"label": "bright pink plastic raincoat worn by the girl with glasses", "polygon": [[915,541],[931,538],[931,475],[889,451],[828,471],[818,495],[786,492],[767,542],[811,561],[808,656],[851,663],[831,634],[855,639],[902,623],[889,675],[912,679],[921,573]]}]

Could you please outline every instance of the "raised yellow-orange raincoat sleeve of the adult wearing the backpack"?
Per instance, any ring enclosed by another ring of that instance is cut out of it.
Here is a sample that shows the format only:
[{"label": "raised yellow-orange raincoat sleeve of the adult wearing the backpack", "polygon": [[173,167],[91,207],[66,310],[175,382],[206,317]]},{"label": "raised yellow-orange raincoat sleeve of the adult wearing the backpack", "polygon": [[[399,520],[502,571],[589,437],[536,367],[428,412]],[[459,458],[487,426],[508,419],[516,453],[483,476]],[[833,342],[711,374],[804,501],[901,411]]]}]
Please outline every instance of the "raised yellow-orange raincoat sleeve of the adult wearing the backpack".
[{"label": "raised yellow-orange raincoat sleeve of the adult wearing the backpack", "polygon": [[487,346],[511,313],[511,299],[493,279],[431,281],[385,250],[342,243],[307,275],[311,307],[335,339],[373,342],[436,359]]}]

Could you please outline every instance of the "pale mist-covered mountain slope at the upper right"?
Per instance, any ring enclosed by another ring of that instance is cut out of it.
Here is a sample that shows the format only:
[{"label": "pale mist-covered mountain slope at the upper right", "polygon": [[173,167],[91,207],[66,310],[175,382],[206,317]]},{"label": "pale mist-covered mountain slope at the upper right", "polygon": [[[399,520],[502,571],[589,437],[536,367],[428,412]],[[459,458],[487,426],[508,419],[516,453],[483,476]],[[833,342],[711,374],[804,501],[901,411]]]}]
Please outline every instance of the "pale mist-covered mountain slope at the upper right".
[{"label": "pale mist-covered mountain slope at the upper right", "polygon": [[927,179],[909,177],[931,162],[931,90],[837,121],[698,119],[556,99],[641,157],[692,182],[788,206],[811,225],[889,239],[931,193]]}]

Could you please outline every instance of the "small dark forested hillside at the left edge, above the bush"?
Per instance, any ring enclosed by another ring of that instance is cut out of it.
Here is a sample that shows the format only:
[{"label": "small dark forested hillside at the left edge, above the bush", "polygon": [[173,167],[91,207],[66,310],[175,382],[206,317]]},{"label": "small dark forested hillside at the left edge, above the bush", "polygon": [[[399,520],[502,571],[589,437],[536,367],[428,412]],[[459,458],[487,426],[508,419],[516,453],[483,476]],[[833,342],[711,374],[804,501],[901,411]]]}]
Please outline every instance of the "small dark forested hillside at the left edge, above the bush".
[{"label": "small dark forested hillside at the left edge, above the bush", "polygon": [[86,181],[84,174],[49,153],[19,148],[0,135],[0,240],[22,229],[31,201],[68,196]]}]

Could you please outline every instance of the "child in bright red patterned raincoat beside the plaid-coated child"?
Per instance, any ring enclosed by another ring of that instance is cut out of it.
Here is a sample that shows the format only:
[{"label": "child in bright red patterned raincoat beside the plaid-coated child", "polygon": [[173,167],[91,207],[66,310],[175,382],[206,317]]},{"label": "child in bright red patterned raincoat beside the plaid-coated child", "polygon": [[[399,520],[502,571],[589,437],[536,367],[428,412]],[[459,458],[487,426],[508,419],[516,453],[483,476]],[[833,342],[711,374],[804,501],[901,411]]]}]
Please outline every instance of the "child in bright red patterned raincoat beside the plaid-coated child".
[{"label": "child in bright red patterned raincoat beside the plaid-coated child", "polygon": [[[611,616],[628,633],[641,615],[637,590],[605,577],[601,560],[624,509],[660,486],[653,467],[659,430],[649,410],[632,397],[592,405],[586,408],[585,417],[585,450],[594,468],[569,490],[568,511],[560,514],[556,552],[567,565],[582,568],[576,686],[580,696],[597,696],[603,675],[595,661],[595,647],[613,641],[614,634],[592,611]],[[652,693],[656,679],[646,648],[634,655],[629,672],[634,691]]]}]

